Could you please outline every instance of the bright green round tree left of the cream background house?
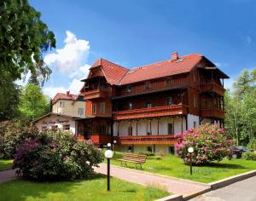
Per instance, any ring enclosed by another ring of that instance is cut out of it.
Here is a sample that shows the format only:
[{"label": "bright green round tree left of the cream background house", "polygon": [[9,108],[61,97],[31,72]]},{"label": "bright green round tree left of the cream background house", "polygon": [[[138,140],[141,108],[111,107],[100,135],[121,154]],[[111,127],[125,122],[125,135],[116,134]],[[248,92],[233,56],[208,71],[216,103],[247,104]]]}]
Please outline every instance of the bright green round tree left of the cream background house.
[{"label": "bright green round tree left of the cream background house", "polygon": [[21,118],[32,120],[49,112],[49,98],[38,85],[29,83],[22,89],[19,111]]}]

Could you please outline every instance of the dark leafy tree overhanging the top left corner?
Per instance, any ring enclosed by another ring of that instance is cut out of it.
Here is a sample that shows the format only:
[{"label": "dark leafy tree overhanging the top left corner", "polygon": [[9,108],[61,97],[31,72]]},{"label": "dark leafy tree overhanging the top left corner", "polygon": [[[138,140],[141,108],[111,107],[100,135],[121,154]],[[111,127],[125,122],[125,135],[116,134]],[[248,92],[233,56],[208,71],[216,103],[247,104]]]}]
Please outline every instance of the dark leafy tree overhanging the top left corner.
[{"label": "dark leafy tree overhanging the top left corner", "polygon": [[3,114],[14,99],[6,92],[15,91],[14,81],[23,73],[31,71],[43,80],[49,78],[50,70],[42,62],[44,53],[55,48],[55,35],[27,0],[0,1],[0,14],[0,112]]}]

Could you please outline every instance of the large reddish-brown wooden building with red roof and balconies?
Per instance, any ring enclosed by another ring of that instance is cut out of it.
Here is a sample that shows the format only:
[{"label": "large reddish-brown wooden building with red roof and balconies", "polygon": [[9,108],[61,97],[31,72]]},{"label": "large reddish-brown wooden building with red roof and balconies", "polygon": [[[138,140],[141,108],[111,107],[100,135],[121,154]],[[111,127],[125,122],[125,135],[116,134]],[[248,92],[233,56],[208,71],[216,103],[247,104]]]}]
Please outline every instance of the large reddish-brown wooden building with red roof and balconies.
[{"label": "large reddish-brown wooden building with red roof and balconies", "polygon": [[78,134],[120,151],[174,152],[174,135],[201,123],[224,127],[224,78],[204,55],[178,56],[127,69],[96,60],[80,93]]}]

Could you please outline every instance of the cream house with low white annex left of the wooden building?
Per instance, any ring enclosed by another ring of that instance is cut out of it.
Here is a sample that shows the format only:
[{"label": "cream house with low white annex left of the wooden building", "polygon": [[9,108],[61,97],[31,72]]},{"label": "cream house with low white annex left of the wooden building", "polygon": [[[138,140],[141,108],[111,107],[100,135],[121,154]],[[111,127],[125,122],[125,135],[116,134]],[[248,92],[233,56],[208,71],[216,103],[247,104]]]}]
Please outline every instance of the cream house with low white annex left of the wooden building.
[{"label": "cream house with low white annex left of the wooden building", "polygon": [[51,103],[51,112],[33,120],[32,123],[38,127],[39,131],[62,129],[76,134],[75,120],[85,117],[84,96],[72,95],[69,91],[66,94],[57,93]]}]

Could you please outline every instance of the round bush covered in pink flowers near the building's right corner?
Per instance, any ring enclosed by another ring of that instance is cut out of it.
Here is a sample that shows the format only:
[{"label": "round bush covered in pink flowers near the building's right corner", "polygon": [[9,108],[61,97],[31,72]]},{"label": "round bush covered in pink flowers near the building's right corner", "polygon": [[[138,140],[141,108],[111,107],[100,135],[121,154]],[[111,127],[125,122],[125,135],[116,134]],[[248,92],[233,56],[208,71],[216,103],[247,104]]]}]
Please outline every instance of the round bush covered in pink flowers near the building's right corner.
[{"label": "round bush covered in pink flowers near the building's right corner", "polygon": [[224,129],[219,129],[216,124],[207,123],[176,136],[179,138],[175,145],[177,154],[178,157],[183,158],[185,164],[190,163],[188,152],[190,146],[194,148],[192,163],[208,164],[230,156],[230,146],[233,145],[225,135]]}]

